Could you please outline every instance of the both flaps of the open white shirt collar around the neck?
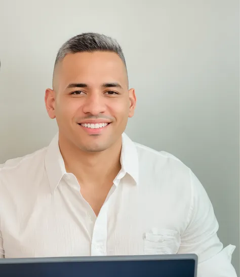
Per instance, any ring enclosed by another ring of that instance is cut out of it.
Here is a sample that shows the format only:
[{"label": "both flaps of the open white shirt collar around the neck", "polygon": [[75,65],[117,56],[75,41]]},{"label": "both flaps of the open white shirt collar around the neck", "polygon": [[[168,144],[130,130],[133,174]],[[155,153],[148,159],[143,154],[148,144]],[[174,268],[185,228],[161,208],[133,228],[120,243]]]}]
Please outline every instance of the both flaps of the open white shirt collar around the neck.
[{"label": "both flaps of the open white shirt collar around the neck", "polygon": [[[121,151],[122,172],[128,173],[138,184],[138,153],[134,142],[125,134],[122,135]],[[66,169],[59,149],[58,133],[52,139],[47,148],[45,157],[45,168],[50,182],[51,191],[53,192],[61,181]]]}]

